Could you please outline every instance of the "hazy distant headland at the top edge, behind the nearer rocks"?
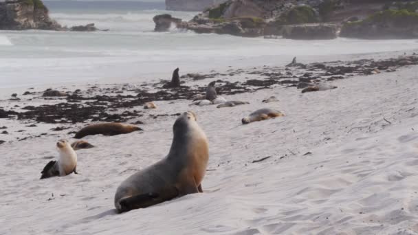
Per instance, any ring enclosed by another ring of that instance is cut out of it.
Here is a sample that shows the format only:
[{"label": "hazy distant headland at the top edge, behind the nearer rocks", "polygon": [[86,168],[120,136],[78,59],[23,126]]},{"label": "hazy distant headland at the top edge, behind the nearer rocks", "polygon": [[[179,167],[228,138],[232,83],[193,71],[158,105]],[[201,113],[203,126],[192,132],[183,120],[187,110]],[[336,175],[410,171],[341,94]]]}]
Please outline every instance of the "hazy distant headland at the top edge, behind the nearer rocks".
[{"label": "hazy distant headland at the top edge, behind the nearer rocks", "polygon": [[226,0],[166,0],[166,10],[200,12]]}]

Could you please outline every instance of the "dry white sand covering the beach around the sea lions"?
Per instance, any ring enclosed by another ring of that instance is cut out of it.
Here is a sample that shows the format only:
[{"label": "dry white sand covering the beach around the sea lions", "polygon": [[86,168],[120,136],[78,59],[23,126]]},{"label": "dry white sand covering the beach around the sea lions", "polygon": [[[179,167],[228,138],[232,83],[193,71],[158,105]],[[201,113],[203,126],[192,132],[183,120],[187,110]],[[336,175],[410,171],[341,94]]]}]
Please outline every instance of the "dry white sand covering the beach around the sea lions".
[{"label": "dry white sand covering the beach around the sea lions", "polygon": [[[80,175],[39,180],[43,157],[69,136],[7,142],[0,234],[418,234],[417,72],[227,96],[251,103],[234,108],[156,102],[150,113],[197,113],[210,143],[205,192],[124,214],[114,212],[116,188],[168,153],[175,116],[145,120],[143,132],[86,137],[96,148],[78,151]],[[281,102],[263,104],[269,96]],[[262,107],[285,117],[241,124]]]}]

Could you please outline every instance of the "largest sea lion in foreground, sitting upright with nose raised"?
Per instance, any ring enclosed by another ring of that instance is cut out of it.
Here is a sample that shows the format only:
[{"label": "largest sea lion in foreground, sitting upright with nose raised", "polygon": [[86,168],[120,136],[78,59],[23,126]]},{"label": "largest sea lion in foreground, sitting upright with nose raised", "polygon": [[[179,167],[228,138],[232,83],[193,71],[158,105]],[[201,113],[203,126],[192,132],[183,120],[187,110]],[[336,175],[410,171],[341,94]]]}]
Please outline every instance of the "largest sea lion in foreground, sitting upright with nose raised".
[{"label": "largest sea lion in foreground, sitting upright with nose raised", "polygon": [[201,181],[208,164],[208,139],[191,111],[173,125],[173,143],[164,159],[123,181],[115,194],[115,208],[127,212],[186,194],[203,192]]}]

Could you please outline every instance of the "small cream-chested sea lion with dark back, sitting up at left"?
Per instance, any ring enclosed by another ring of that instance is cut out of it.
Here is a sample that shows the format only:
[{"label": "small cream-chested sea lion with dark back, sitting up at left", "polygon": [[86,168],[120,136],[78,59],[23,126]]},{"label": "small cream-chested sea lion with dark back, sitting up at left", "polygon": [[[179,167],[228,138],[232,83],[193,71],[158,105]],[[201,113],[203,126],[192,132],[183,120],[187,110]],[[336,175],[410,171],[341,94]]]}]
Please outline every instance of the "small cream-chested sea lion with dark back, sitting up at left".
[{"label": "small cream-chested sea lion with dark back, sitting up at left", "polygon": [[69,175],[72,172],[78,174],[77,172],[77,154],[76,151],[69,145],[67,139],[60,139],[56,146],[58,147],[58,152],[60,156],[58,161],[50,161],[41,172],[41,179],[46,179],[49,177],[56,176],[65,176]]}]

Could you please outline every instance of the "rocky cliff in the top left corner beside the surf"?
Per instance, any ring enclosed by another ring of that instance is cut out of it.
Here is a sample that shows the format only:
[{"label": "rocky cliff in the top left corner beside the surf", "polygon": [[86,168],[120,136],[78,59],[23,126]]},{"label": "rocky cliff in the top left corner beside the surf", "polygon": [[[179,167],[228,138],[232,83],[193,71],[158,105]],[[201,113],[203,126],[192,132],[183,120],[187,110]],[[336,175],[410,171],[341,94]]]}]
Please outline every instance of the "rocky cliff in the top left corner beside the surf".
[{"label": "rocky cliff in the top left corner beside the surf", "polygon": [[61,30],[41,0],[0,2],[0,30]]}]

